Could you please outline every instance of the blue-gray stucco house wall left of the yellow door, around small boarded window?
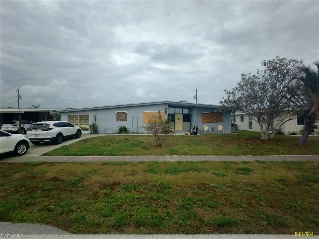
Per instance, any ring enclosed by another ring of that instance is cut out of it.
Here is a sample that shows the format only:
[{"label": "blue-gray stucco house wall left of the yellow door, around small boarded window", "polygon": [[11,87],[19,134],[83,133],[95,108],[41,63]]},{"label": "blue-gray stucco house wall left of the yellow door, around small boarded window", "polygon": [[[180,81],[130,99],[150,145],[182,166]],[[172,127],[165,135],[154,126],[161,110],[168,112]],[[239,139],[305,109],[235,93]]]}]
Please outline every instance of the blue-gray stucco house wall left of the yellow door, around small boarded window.
[{"label": "blue-gray stucco house wall left of the yellow door, around small boarded window", "polygon": [[[138,122],[138,132],[144,133],[145,130],[143,126],[143,111],[157,111],[163,110],[162,108],[165,105],[142,105],[142,106],[130,106],[130,107],[119,107],[119,108],[111,108],[111,109],[99,109],[99,110],[85,110],[85,111],[76,111],[76,112],[68,112],[68,113],[61,113],[61,120],[68,121],[69,114],[89,114],[89,122],[90,124],[93,122],[93,115],[96,114],[96,124],[99,126],[99,133],[100,134],[110,134],[116,133],[117,128],[121,125],[126,126],[132,132],[132,117],[137,116]],[[116,122],[115,119],[115,112],[117,111],[126,111],[127,112],[127,122]],[[134,117],[134,129],[136,126],[136,117]],[[135,130],[136,131],[136,130]]]}]

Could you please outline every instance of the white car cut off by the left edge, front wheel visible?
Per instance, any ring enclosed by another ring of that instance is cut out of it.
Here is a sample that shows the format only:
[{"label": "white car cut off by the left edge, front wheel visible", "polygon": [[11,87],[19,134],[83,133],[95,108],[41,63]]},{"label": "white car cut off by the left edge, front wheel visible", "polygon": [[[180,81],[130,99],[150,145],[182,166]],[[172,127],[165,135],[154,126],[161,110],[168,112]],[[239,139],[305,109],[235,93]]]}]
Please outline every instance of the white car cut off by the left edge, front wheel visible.
[{"label": "white car cut off by the left edge, front wheel visible", "polygon": [[0,130],[0,153],[14,151],[16,155],[26,154],[30,148],[30,141],[23,134],[10,134]]}]

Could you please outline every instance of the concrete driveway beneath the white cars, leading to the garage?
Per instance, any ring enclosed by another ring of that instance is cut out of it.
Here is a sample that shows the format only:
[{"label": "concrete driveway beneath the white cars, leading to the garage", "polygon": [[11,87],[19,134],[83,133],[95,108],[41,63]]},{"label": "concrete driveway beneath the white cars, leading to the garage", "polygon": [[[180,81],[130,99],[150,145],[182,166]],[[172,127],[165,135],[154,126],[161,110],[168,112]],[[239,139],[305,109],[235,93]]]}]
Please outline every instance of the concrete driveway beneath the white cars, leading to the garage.
[{"label": "concrete driveway beneath the white cars, leading to the garage", "polygon": [[[30,148],[28,152],[23,156],[18,156],[19,158],[27,157],[27,156],[40,156],[44,153],[47,153],[55,148],[60,148],[63,145],[68,145],[83,139],[97,137],[97,136],[103,136],[105,134],[82,134],[80,138],[75,139],[71,138],[66,141],[63,141],[61,144],[54,144],[53,142],[48,143],[41,143],[39,145],[33,145],[31,143]],[[17,156],[14,156],[12,153],[8,153],[4,156],[1,156],[1,159],[10,159],[10,158],[16,158]]]}]

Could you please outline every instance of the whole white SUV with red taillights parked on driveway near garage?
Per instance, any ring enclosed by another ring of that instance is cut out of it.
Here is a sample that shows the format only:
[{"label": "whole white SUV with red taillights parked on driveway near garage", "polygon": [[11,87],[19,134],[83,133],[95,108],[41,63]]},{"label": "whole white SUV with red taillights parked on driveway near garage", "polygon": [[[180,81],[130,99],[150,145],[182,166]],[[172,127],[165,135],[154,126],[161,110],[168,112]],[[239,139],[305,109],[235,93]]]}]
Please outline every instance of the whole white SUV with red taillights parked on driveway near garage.
[{"label": "whole white SUV with red taillights parked on driveway near garage", "polygon": [[40,144],[41,142],[62,143],[66,138],[80,138],[81,128],[66,121],[43,121],[34,123],[26,132],[26,136],[31,143]]}]

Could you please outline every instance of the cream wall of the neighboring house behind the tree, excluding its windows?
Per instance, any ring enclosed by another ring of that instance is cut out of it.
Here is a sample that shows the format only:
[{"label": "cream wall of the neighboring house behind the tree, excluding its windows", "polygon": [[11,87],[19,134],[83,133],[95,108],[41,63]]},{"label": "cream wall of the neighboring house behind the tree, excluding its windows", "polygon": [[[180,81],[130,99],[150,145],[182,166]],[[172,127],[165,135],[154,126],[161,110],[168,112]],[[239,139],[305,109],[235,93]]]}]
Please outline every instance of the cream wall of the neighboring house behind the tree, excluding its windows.
[{"label": "cream wall of the neighboring house behind the tree, excluding its windows", "polygon": [[[241,117],[244,118],[244,122],[241,122]],[[251,131],[260,132],[260,127],[259,127],[259,124],[256,122],[257,119],[255,117],[252,117],[253,118],[252,129],[249,129],[249,115],[248,114],[236,112],[235,118],[236,118],[237,128],[239,130],[251,130]],[[319,123],[316,123],[315,125],[317,125],[318,129],[319,129]],[[281,126],[281,132],[284,132],[285,134],[289,134],[289,133],[295,131],[295,132],[297,132],[297,134],[301,134],[300,130],[302,130],[303,128],[304,128],[304,125],[298,125],[297,118],[295,118],[293,120],[289,120],[286,123],[284,123]],[[317,129],[317,131],[318,131],[318,129]]]}]

